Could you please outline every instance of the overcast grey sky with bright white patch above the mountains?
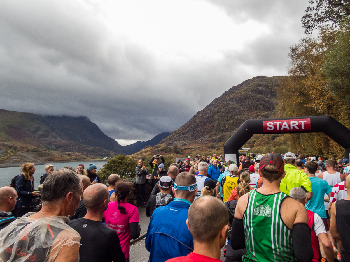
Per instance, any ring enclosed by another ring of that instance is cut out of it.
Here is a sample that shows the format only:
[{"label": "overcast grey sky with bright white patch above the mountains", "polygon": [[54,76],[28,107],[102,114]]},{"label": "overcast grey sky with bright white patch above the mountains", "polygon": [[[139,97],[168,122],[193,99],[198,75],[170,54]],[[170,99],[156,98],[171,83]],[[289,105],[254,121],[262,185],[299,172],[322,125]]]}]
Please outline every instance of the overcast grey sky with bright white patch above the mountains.
[{"label": "overcast grey sky with bright white patch above the mountains", "polygon": [[285,75],[307,0],[0,1],[0,108],[87,116],[121,145]]}]

